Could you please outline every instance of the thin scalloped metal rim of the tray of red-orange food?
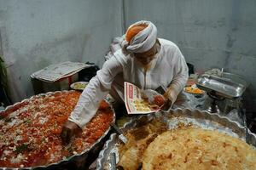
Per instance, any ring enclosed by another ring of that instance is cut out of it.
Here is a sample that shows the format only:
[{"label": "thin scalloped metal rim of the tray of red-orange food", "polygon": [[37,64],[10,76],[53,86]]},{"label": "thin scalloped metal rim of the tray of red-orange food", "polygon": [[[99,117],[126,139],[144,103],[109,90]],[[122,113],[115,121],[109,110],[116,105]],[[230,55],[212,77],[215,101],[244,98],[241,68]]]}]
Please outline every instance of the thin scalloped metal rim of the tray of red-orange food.
[{"label": "thin scalloped metal rim of the tray of red-orange food", "polygon": [[[24,103],[30,99],[33,99],[33,98],[36,98],[36,97],[40,97],[40,96],[47,96],[49,94],[59,94],[59,93],[69,93],[69,92],[74,92],[75,90],[63,90],[63,91],[55,91],[55,92],[48,92],[48,93],[45,93],[45,94],[37,94],[37,95],[33,95],[31,98],[28,98],[28,99],[23,99],[21,100],[20,102],[17,102],[15,103],[14,105],[9,105],[7,106],[3,111],[0,111],[0,115],[4,112],[4,111],[7,111],[9,110],[10,108],[13,108],[15,107],[15,105],[20,105],[21,103]],[[106,99],[105,99],[106,102],[108,102]],[[113,110],[113,106],[108,102],[108,105],[110,105],[111,107],[111,110],[113,111],[113,121],[112,122],[115,122],[115,112]],[[108,127],[108,129],[105,131],[105,133],[102,134],[101,138],[97,139],[96,142],[92,145],[90,145],[89,148],[83,150],[81,153],[79,154],[74,154],[73,156],[69,156],[67,157],[66,159],[62,159],[61,161],[57,161],[57,162],[54,162],[54,163],[50,163],[50,164],[47,164],[45,166],[36,166],[36,167],[0,167],[0,169],[3,169],[3,170],[18,170],[18,169],[36,169],[36,168],[51,168],[51,167],[54,167],[54,166],[58,166],[58,165],[61,165],[63,163],[66,163],[67,161],[72,161],[73,159],[75,158],[78,158],[80,156],[83,156],[85,155],[86,153],[88,153],[92,148],[94,148],[97,144],[100,143],[100,141],[108,134],[108,132],[110,131],[110,126]]]}]

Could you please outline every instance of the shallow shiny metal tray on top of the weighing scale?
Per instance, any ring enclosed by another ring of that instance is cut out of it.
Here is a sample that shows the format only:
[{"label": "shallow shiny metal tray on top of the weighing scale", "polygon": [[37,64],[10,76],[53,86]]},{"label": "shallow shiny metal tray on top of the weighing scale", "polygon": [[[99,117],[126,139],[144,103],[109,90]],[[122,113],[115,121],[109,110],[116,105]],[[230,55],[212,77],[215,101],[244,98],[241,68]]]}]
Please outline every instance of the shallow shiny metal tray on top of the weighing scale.
[{"label": "shallow shiny metal tray on top of the weighing scale", "polygon": [[196,86],[207,91],[207,93],[217,94],[228,99],[240,97],[247,88],[247,84],[242,83],[242,81],[212,75],[202,75],[199,77]]}]

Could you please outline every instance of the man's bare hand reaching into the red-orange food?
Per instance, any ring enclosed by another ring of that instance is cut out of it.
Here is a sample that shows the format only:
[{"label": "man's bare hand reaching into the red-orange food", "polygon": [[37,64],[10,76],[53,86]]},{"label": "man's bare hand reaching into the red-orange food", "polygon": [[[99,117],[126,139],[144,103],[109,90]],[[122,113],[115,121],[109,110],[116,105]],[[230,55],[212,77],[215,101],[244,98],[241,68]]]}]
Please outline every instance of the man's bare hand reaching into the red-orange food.
[{"label": "man's bare hand reaching into the red-orange food", "polygon": [[69,144],[74,135],[81,133],[82,129],[74,122],[67,121],[62,127],[61,140],[63,144]]}]

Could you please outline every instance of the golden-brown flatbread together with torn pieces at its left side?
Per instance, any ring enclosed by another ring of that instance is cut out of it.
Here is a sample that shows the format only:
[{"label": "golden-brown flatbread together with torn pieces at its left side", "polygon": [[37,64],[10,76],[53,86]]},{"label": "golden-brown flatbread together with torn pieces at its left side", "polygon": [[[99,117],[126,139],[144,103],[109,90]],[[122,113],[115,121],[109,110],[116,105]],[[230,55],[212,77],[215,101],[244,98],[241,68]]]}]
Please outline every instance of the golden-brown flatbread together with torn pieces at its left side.
[{"label": "golden-brown flatbread together with torn pieces at its left side", "polygon": [[[150,126],[143,128],[150,129]],[[119,147],[119,167],[125,170],[256,169],[256,150],[241,139],[217,130],[192,126],[164,133],[162,130],[145,132],[139,135],[140,139],[127,133],[128,144]]]}]

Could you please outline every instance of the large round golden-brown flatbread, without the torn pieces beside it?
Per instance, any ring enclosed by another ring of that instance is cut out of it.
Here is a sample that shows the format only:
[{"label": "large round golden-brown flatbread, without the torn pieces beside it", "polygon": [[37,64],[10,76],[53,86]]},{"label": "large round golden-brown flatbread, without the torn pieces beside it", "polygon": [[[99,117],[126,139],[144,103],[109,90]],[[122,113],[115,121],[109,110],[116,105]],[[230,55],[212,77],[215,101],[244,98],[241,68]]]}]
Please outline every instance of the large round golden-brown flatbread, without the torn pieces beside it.
[{"label": "large round golden-brown flatbread, without the torn pieces beside it", "polygon": [[252,146],[218,131],[195,127],[160,134],[143,154],[143,170],[256,169]]}]

